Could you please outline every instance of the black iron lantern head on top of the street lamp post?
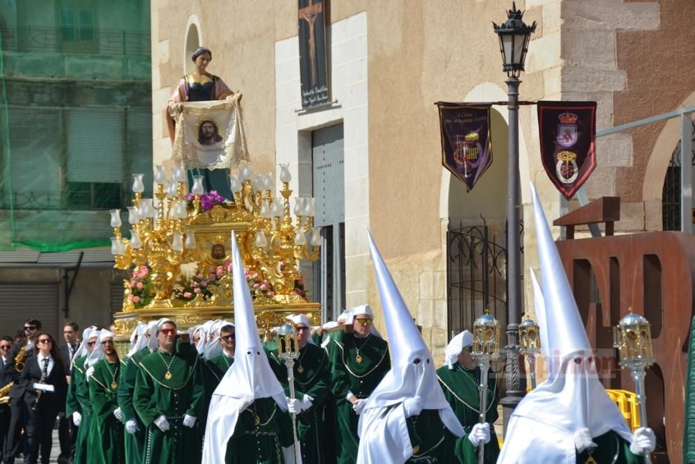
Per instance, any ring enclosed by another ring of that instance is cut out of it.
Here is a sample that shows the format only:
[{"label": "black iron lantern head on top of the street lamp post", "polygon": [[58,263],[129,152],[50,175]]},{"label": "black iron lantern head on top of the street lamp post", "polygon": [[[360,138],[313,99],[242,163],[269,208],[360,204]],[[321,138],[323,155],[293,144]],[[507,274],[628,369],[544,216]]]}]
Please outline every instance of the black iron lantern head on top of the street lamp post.
[{"label": "black iron lantern head on top of the street lamp post", "polygon": [[500,36],[500,52],[502,53],[502,69],[507,72],[507,77],[519,77],[526,60],[528,42],[531,34],[536,30],[536,22],[528,26],[523,22],[523,11],[516,9],[516,3],[512,2],[512,9],[507,11],[507,21],[498,26],[494,22],[495,33]]}]

